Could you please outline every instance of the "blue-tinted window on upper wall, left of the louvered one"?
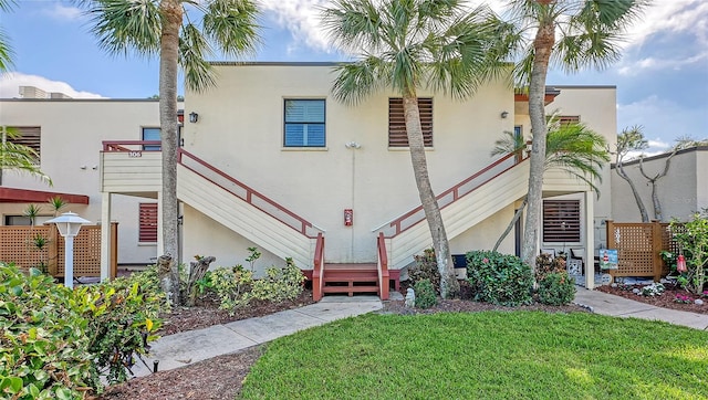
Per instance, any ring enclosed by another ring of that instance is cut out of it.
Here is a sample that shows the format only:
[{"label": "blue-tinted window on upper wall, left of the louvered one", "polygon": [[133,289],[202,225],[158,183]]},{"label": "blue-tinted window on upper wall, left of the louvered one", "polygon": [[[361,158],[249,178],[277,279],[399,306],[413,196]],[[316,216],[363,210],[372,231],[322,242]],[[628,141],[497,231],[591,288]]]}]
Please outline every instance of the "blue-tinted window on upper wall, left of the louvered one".
[{"label": "blue-tinted window on upper wall, left of the louvered one", "polygon": [[325,147],[324,98],[287,98],[283,147]]}]

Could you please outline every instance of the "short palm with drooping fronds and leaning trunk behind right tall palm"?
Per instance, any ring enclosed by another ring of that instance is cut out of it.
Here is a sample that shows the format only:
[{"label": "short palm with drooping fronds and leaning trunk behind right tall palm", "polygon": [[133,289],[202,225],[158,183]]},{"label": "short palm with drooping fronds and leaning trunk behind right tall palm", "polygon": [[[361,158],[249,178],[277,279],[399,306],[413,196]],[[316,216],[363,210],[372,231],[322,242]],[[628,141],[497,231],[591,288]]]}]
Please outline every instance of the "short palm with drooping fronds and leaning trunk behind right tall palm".
[{"label": "short palm with drooping fronds and leaning trunk behind right tall palm", "polygon": [[[562,169],[587,183],[600,197],[600,188],[595,182],[602,182],[602,168],[610,162],[610,151],[607,150],[605,137],[593,131],[584,124],[561,124],[555,116],[550,118],[548,125],[544,170],[551,168]],[[525,138],[507,131],[504,137],[494,141],[491,155],[520,152],[525,149]],[[527,204],[528,198],[524,198],[511,223],[497,241],[494,251],[511,232]]]}]

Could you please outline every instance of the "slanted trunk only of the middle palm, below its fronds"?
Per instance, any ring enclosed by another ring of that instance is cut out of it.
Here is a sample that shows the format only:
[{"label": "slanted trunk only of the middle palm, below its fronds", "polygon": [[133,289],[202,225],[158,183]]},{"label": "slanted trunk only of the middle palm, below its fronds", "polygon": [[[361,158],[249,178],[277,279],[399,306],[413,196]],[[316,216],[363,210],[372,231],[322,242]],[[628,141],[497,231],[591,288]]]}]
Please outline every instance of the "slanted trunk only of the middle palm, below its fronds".
[{"label": "slanted trunk only of the middle palm, below its fronds", "polygon": [[420,110],[418,109],[418,97],[415,92],[403,95],[403,109],[406,118],[406,135],[408,136],[413,173],[418,187],[425,218],[428,221],[430,235],[433,236],[433,248],[435,249],[438,271],[440,272],[440,296],[448,298],[459,292],[459,283],[452,269],[450,269],[450,246],[447,241],[440,208],[430,186],[423,129],[420,128]]}]

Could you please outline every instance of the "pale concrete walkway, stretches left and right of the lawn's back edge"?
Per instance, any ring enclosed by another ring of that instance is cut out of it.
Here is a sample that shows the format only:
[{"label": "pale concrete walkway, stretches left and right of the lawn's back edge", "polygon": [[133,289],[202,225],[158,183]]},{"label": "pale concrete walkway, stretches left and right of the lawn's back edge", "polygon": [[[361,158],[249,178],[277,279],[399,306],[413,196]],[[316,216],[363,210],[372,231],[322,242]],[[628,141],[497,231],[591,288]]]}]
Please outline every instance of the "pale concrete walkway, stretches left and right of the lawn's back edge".
[{"label": "pale concrete walkway, stretches left and right of the lawn's back edge", "polygon": [[[393,298],[393,296],[396,297]],[[392,299],[403,299],[403,296],[394,292]],[[577,288],[575,303],[591,308],[596,314],[665,320],[696,329],[708,329],[708,315],[659,308],[583,287]],[[160,371],[184,367],[260,345],[298,330],[375,312],[382,307],[377,296],[326,296],[320,303],[296,309],[165,336],[150,344],[150,355],[146,357],[150,368],[146,368],[138,361],[134,372],[138,377],[149,375],[154,360],[159,360]]]}]

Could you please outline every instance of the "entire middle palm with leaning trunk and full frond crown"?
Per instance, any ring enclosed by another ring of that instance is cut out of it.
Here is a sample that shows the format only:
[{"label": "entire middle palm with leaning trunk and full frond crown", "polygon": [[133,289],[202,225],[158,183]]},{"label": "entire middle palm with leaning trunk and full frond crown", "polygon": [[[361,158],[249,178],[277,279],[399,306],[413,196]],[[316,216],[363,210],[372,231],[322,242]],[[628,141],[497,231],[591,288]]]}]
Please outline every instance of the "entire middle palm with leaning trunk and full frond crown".
[{"label": "entire middle palm with leaning trunk and full frond crown", "polygon": [[337,101],[356,104],[385,88],[403,97],[410,160],[442,277],[440,294],[447,297],[457,292],[458,282],[428,177],[417,91],[462,99],[487,78],[509,73],[508,65],[492,56],[499,21],[487,8],[470,11],[457,0],[335,0],[323,20],[334,44],[360,54],[357,61],[335,67]]}]

